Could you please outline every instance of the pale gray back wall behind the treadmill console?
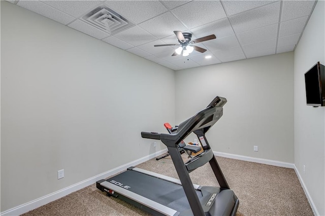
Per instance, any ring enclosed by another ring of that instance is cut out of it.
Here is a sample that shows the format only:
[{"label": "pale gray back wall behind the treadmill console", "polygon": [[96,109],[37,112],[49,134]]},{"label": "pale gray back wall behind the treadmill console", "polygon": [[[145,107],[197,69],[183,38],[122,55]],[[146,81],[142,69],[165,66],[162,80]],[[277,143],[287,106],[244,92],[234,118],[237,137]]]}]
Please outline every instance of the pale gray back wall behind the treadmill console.
[{"label": "pale gray back wall behind the treadmill console", "polygon": [[176,71],[176,120],[223,96],[223,117],[207,134],[214,151],[293,163],[293,64],[289,52]]}]

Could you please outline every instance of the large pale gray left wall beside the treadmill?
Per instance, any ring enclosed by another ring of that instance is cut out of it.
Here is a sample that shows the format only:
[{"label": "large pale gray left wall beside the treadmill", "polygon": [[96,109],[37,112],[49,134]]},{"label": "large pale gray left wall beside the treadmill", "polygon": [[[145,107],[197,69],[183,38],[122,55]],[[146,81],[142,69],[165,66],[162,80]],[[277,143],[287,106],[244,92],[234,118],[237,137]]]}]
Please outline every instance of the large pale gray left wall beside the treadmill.
[{"label": "large pale gray left wall beside the treadmill", "polygon": [[174,73],[1,1],[1,211],[162,149]]}]

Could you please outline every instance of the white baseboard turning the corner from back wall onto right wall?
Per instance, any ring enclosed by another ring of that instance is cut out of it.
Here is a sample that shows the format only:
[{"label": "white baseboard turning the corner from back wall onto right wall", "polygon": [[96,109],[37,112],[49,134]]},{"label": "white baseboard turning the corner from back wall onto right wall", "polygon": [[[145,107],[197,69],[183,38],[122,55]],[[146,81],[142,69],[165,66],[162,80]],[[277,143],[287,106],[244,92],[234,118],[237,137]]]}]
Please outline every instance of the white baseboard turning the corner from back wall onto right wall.
[{"label": "white baseboard turning the corner from back wall onto right wall", "polygon": [[316,208],[316,206],[307,190],[307,187],[306,187],[295,164],[281,162],[281,161],[268,160],[268,159],[262,159],[262,158],[253,158],[253,157],[247,157],[247,156],[235,155],[235,154],[229,154],[229,153],[223,153],[223,152],[213,152],[213,153],[215,156],[224,157],[224,158],[232,158],[232,159],[237,159],[237,160],[242,160],[242,161],[256,162],[256,163],[262,163],[262,164],[268,164],[268,165],[273,165],[273,166],[280,166],[280,167],[294,169],[296,171],[296,174],[300,181],[301,187],[303,188],[305,195],[308,199],[311,209],[313,210],[315,215],[320,215],[319,212],[317,211],[317,208]]}]

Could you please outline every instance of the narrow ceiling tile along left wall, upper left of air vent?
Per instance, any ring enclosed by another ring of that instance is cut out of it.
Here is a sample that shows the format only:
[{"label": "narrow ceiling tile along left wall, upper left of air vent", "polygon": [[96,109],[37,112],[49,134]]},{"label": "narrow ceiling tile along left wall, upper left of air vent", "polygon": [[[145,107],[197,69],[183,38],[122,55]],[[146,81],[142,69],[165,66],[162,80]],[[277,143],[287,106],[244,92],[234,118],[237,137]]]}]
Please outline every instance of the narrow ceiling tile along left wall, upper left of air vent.
[{"label": "narrow ceiling tile along left wall, upper left of air vent", "polygon": [[58,11],[52,8],[51,6],[48,6],[39,1],[19,1],[17,5],[35,13],[41,14],[57,22],[60,22],[64,25],[75,20],[74,17],[69,16],[68,14],[65,14],[61,11]]}]

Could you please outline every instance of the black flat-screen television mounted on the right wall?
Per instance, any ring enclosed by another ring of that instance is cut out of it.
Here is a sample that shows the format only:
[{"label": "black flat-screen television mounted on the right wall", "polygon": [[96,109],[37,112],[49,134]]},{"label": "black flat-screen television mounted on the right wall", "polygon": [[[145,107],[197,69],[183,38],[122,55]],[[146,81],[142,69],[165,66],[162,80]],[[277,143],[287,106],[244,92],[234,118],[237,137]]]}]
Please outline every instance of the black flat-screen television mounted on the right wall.
[{"label": "black flat-screen television mounted on the right wall", "polygon": [[305,74],[307,105],[325,106],[324,65],[317,62]]}]

